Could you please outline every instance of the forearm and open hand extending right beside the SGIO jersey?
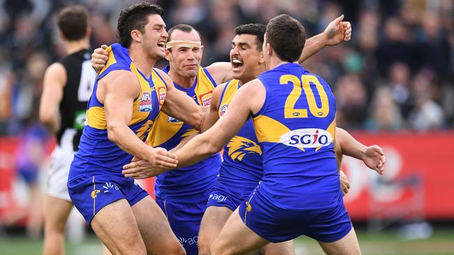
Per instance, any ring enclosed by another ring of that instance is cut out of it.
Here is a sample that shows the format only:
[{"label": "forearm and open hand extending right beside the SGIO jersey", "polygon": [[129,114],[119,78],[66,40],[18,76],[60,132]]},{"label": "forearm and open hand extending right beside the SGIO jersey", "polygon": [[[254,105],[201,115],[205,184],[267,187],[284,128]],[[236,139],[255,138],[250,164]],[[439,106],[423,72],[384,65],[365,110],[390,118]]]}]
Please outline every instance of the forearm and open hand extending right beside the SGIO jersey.
[{"label": "forearm and open hand extending right beside the SGIO jersey", "polygon": [[380,146],[372,145],[367,147],[339,127],[336,128],[336,137],[342,148],[342,154],[363,160],[367,167],[379,174],[383,174],[386,157]]}]

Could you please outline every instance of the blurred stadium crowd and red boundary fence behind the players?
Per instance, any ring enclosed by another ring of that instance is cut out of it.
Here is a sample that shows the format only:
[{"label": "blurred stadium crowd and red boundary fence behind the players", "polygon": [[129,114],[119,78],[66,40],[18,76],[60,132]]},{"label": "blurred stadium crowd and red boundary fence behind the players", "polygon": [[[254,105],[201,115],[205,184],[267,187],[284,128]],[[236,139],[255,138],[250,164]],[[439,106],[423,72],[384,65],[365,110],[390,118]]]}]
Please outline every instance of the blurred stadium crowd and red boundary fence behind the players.
[{"label": "blurred stadium crowd and red boundary fence behind the players", "polygon": [[[40,196],[29,193],[16,169],[24,157],[31,159],[40,169],[42,190],[54,141],[38,123],[39,97],[45,68],[63,52],[55,13],[70,3],[88,6],[91,45],[98,47],[115,42],[119,10],[133,2],[0,0],[0,254],[41,253],[39,232],[28,224],[30,212],[40,211]],[[382,177],[344,159],[351,182],[345,203],[363,252],[454,254],[453,0],[155,2],[166,10],[168,29],[185,23],[200,31],[203,65],[228,61],[239,24],[266,24],[288,13],[314,36],[343,13],[353,26],[351,41],[323,49],[303,66],[332,86],[337,125],[386,152]],[[98,251],[87,233],[71,238],[68,254]],[[297,244],[298,254],[321,254],[312,240]]]}]

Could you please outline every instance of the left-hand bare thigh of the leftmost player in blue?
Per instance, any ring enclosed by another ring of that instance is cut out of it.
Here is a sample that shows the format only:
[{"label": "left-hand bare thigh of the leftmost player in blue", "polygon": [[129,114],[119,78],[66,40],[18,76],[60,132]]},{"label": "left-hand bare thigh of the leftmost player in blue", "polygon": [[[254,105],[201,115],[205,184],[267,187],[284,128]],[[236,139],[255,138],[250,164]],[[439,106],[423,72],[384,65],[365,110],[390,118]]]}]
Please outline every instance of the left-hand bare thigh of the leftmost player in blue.
[{"label": "left-hand bare thigh of the leftmost player in blue", "polygon": [[91,219],[91,228],[112,254],[147,254],[138,222],[126,199],[99,210]]}]

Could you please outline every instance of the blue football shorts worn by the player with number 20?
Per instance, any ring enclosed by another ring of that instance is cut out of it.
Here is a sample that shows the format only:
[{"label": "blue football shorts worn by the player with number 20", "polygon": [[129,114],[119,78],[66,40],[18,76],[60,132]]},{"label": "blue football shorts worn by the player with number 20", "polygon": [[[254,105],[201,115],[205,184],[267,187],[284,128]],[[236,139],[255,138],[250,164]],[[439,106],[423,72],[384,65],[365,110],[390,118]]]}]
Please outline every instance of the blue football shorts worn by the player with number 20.
[{"label": "blue football shorts worn by the player with number 20", "polygon": [[334,208],[298,211],[274,206],[257,189],[240,204],[239,213],[249,229],[270,242],[293,240],[300,235],[321,242],[335,242],[352,228],[342,194]]}]

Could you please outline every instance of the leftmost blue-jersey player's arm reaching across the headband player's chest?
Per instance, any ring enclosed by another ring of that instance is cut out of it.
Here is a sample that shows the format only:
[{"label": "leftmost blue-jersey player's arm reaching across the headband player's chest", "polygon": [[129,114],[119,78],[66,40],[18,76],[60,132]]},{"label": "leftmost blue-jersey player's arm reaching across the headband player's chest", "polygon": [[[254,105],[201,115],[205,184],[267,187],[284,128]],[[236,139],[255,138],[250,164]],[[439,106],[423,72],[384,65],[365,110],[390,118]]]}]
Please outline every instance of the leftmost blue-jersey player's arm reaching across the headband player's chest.
[{"label": "leftmost blue-jersey player's arm reaching across the headband player's chest", "polygon": [[167,84],[166,100],[161,111],[193,126],[196,130],[200,130],[203,124],[203,118],[205,117],[203,108],[197,105],[192,98],[189,98],[186,93],[175,88],[172,79],[168,77],[166,72],[156,68],[154,70],[159,72],[159,75],[163,77]]}]

